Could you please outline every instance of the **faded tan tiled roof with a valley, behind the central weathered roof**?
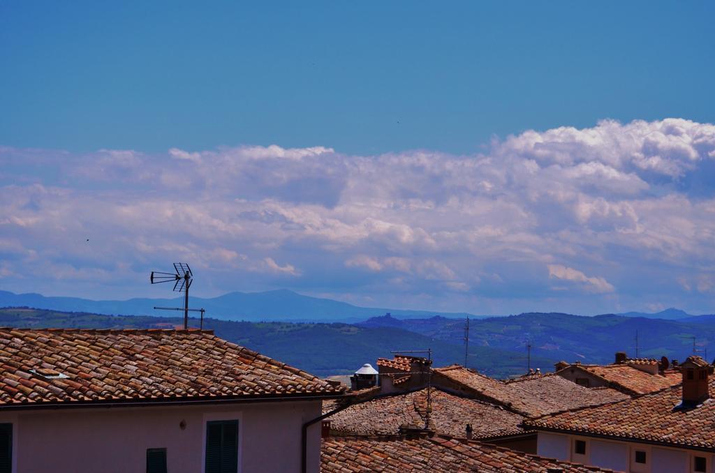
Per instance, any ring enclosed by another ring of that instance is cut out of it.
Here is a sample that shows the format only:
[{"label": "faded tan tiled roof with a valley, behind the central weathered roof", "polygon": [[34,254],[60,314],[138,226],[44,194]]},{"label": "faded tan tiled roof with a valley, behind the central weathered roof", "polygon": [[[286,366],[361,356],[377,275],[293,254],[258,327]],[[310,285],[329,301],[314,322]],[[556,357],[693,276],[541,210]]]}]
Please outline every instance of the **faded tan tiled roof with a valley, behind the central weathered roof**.
[{"label": "faded tan tiled roof with a valley, behind the central weathered roof", "polygon": [[459,366],[437,368],[435,372],[528,417],[627,398],[615,389],[588,389],[554,374],[501,382]]}]

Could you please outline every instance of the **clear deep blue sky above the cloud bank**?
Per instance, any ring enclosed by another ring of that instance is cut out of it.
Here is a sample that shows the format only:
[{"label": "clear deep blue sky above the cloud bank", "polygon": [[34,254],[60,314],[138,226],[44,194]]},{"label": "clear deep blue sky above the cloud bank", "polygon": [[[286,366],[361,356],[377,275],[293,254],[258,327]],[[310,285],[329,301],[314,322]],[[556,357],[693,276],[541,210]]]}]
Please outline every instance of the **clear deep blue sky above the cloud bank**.
[{"label": "clear deep blue sky above the cloud bank", "polygon": [[712,121],[711,2],[0,5],[0,142],[473,153],[493,135]]}]

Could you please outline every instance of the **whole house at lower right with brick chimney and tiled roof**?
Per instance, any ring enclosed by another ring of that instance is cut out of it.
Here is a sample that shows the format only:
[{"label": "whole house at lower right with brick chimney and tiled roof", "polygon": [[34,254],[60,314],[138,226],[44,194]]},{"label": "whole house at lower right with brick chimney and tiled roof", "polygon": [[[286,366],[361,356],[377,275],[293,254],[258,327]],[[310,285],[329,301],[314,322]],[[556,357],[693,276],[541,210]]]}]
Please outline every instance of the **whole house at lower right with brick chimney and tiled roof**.
[{"label": "whole house at lower right with brick chimney and tiled roof", "polygon": [[712,367],[690,357],[680,368],[676,387],[526,421],[538,454],[626,472],[715,473]]}]

